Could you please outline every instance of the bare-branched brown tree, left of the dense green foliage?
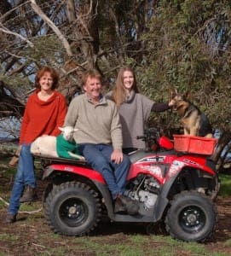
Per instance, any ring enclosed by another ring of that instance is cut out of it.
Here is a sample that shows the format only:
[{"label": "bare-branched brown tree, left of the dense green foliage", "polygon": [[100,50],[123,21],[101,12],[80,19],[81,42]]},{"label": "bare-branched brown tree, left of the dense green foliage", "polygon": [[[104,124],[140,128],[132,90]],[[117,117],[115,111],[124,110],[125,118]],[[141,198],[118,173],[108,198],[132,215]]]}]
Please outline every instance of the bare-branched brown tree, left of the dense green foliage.
[{"label": "bare-branched brown tree, left of the dense green foliage", "polygon": [[85,69],[115,76],[126,58],[141,59],[139,38],[153,2],[1,1],[0,79],[23,102],[42,65],[60,70],[67,99],[81,90]]}]

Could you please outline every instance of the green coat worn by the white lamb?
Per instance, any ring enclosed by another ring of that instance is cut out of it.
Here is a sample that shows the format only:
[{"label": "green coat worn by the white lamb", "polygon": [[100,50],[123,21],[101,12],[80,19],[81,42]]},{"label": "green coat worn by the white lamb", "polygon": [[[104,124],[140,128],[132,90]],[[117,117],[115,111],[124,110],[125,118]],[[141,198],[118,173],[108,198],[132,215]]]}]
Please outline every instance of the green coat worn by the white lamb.
[{"label": "green coat worn by the white lamb", "polygon": [[56,137],[56,150],[57,154],[64,158],[73,158],[70,154],[68,154],[68,151],[79,154],[77,144],[74,142],[74,140],[72,140],[72,142],[68,142],[63,138],[62,134]]}]

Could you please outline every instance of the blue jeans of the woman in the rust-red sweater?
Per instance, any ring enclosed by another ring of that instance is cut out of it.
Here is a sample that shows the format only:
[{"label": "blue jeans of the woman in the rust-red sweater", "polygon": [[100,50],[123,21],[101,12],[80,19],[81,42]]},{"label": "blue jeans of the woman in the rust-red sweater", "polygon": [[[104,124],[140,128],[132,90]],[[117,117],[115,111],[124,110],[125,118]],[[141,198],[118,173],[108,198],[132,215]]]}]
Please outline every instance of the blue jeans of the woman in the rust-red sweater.
[{"label": "blue jeans of the woman in the rust-red sweater", "polygon": [[8,212],[17,214],[20,208],[20,197],[25,185],[36,187],[34,175],[34,157],[30,151],[31,144],[22,144],[20,149],[20,159],[18,169],[14,177],[14,185],[9,200]]}]

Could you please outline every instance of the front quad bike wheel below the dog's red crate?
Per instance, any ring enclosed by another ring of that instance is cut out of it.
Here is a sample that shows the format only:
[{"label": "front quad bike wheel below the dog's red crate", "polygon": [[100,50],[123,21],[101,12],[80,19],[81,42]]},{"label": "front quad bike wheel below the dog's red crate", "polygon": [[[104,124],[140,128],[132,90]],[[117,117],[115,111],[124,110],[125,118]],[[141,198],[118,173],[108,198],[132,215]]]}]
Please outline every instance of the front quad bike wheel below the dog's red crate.
[{"label": "front quad bike wheel below the dog's red crate", "polygon": [[170,236],[182,241],[205,241],[216,229],[217,208],[209,197],[184,191],[170,202],[165,219]]}]

